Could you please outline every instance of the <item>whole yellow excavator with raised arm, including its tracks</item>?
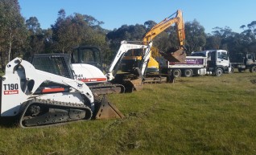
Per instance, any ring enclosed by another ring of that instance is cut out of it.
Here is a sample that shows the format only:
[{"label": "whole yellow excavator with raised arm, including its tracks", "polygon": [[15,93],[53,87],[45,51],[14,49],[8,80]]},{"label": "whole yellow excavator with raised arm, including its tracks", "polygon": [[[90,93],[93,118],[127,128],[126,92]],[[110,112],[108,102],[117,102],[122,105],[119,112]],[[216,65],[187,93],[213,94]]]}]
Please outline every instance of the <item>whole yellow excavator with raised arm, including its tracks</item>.
[{"label": "whole yellow excavator with raised arm, including its tracks", "polygon": [[[177,40],[179,47],[169,49],[168,51],[159,51],[155,47],[151,47],[149,53],[131,53],[125,55],[122,60],[122,71],[130,72],[134,67],[138,67],[141,70],[143,77],[143,83],[163,83],[163,81],[171,82],[172,77],[166,74],[159,74],[159,59],[167,59],[170,62],[184,62],[186,59],[185,52],[185,31],[184,20],[181,10],[177,10],[175,14],[164,18],[148,31],[142,38],[142,43],[150,43],[157,35],[165,31],[168,27],[175,24],[177,32]],[[146,54],[146,55],[144,55]],[[147,57],[149,56],[149,59]],[[145,61],[144,61],[145,60]],[[143,64],[142,64],[143,63]],[[146,64],[146,67],[144,67]],[[143,70],[143,68],[146,68]],[[152,78],[155,77],[155,80]]]}]

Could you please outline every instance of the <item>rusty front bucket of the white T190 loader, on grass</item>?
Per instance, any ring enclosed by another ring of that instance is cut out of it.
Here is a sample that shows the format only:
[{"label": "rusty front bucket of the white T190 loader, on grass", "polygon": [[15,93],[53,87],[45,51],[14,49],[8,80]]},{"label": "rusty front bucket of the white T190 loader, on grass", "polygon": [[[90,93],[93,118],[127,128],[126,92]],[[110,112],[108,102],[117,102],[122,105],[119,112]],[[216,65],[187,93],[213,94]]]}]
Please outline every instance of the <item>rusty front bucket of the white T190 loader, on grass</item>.
[{"label": "rusty front bucket of the white T190 loader, on grass", "polygon": [[103,96],[102,99],[97,99],[95,102],[95,116],[94,119],[114,119],[114,118],[124,118],[122,112],[118,108],[109,103],[106,96]]}]

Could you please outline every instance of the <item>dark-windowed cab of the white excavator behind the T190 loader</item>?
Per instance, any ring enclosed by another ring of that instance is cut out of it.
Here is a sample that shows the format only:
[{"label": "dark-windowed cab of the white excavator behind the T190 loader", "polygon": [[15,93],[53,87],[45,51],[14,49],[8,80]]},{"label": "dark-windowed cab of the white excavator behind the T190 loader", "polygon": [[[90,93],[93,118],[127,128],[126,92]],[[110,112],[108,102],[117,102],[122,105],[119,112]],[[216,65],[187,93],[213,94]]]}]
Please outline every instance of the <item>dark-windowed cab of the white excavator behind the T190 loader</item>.
[{"label": "dark-windowed cab of the white excavator behind the T190 loader", "polygon": [[72,63],[87,63],[102,71],[101,50],[97,47],[76,47],[71,55]]}]

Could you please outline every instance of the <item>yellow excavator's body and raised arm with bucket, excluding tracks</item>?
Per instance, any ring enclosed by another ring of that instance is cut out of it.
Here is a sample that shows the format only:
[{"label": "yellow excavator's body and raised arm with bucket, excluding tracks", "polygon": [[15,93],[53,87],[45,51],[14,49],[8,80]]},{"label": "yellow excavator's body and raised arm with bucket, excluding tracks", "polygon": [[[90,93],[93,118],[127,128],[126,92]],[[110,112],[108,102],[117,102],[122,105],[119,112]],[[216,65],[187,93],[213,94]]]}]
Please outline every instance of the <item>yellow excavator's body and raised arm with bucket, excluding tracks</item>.
[{"label": "yellow excavator's body and raised arm with bucket, excluding tracks", "polygon": [[[175,16],[175,17],[174,17]],[[148,43],[152,41],[157,35],[165,31],[168,27],[171,27],[175,23],[176,32],[179,41],[179,47],[173,48],[170,51],[159,51],[157,48],[151,48],[151,56],[147,64],[147,73],[149,72],[159,72],[159,63],[153,58],[154,55],[161,55],[164,59],[167,59],[170,62],[184,62],[186,59],[186,52],[184,48],[185,42],[185,31],[184,31],[184,19],[181,10],[177,10],[171,16],[164,18],[163,21],[156,24],[151,28],[150,31],[144,35],[142,41],[143,43]],[[154,56],[155,57],[155,56]],[[125,56],[122,61],[122,71],[129,71],[129,67],[136,67],[136,64],[139,64],[139,61],[142,59],[141,55],[131,54]]]}]

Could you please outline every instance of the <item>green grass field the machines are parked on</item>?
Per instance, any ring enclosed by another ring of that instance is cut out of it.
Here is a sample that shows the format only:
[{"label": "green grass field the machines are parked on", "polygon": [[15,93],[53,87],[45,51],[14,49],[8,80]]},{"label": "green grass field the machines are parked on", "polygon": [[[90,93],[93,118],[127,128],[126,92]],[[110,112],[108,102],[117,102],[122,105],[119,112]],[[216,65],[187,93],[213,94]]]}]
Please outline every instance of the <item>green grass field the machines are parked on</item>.
[{"label": "green grass field the machines are parked on", "polygon": [[256,74],[179,78],[109,96],[126,116],[0,126],[0,154],[256,154]]}]

